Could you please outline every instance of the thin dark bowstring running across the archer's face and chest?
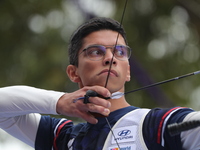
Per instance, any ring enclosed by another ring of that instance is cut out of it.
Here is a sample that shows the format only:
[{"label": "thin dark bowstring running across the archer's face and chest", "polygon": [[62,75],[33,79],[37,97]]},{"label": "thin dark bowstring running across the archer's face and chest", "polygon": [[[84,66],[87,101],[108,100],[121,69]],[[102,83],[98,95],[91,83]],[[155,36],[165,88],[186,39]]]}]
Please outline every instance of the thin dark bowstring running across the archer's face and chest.
[{"label": "thin dark bowstring running across the archer's face and chest", "polygon": [[[121,21],[120,21],[119,28],[122,27],[122,22],[123,22],[123,19],[124,19],[124,14],[125,14],[125,10],[126,10],[126,7],[127,7],[127,3],[128,3],[128,0],[125,1],[125,5],[124,5],[123,12],[122,12],[122,18],[121,18]],[[110,77],[110,71],[111,71],[111,68],[112,68],[112,63],[113,63],[114,54],[115,54],[115,48],[116,48],[116,46],[117,46],[117,42],[118,42],[118,39],[119,39],[119,35],[120,35],[120,33],[118,32],[117,38],[116,38],[116,43],[115,43],[115,46],[114,46],[114,50],[113,50],[113,52],[112,52],[112,59],[111,59],[111,61],[110,61],[110,65],[109,65],[109,69],[108,69],[108,75],[107,75],[107,78],[106,78],[106,83],[105,83],[105,86],[104,86],[105,88],[106,88],[107,85],[108,85],[108,79],[109,79],[109,77]],[[119,143],[117,142],[117,139],[116,139],[116,137],[115,137],[115,134],[114,134],[114,132],[113,132],[113,130],[112,130],[112,127],[111,127],[111,125],[110,125],[110,123],[109,123],[109,121],[108,121],[108,118],[105,117],[105,120],[106,120],[106,122],[107,122],[107,124],[108,124],[108,126],[109,126],[109,128],[110,128],[110,131],[111,131],[111,133],[112,133],[112,135],[113,135],[113,137],[114,137],[114,140],[115,140],[115,142],[116,142],[118,148],[120,149]]]}]

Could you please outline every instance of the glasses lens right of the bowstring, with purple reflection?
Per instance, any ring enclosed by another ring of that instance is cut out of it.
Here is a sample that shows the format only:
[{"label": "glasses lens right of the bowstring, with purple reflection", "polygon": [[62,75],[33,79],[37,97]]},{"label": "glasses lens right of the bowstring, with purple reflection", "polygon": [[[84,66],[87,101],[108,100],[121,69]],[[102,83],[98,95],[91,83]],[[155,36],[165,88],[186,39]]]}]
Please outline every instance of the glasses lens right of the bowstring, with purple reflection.
[{"label": "glasses lens right of the bowstring, with purple reflection", "polygon": [[131,50],[128,46],[116,45],[115,47],[115,57],[120,60],[129,59],[131,55]]}]

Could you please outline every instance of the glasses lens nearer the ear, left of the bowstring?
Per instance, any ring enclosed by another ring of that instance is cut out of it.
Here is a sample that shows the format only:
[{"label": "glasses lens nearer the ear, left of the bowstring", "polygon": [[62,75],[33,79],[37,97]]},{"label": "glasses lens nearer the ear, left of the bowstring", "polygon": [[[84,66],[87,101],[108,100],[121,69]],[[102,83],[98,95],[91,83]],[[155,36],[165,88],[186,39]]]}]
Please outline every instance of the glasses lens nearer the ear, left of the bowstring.
[{"label": "glasses lens nearer the ear, left of the bowstring", "polygon": [[93,45],[86,49],[86,53],[91,60],[100,60],[105,55],[106,49],[100,45]]}]

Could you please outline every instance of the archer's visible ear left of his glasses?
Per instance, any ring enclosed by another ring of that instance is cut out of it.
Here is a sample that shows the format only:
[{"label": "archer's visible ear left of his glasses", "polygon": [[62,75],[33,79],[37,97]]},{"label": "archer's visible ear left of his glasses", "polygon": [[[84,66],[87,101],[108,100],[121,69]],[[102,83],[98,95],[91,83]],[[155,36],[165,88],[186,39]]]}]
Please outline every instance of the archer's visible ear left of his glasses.
[{"label": "archer's visible ear left of his glasses", "polygon": [[80,82],[80,77],[77,74],[77,67],[74,65],[67,66],[66,73],[72,82]]}]

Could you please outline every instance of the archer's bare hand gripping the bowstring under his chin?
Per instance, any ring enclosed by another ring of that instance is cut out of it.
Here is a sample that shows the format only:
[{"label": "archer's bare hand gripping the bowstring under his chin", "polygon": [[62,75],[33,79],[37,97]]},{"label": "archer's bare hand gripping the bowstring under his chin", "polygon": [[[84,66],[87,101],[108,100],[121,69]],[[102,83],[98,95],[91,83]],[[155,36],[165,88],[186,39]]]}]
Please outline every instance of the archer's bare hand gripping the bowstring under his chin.
[{"label": "archer's bare hand gripping the bowstring under his chin", "polygon": [[79,117],[92,124],[96,124],[97,119],[89,112],[99,113],[104,116],[108,116],[110,113],[108,108],[111,106],[111,104],[109,101],[103,98],[90,97],[89,98],[90,103],[87,104],[84,104],[83,100],[79,100],[76,103],[73,102],[74,99],[77,99],[79,97],[84,97],[84,95],[88,90],[96,91],[98,94],[104,97],[111,96],[108,89],[104,87],[101,86],[84,87],[73,93],[64,94],[57,102],[56,106],[57,113],[70,117]]}]

